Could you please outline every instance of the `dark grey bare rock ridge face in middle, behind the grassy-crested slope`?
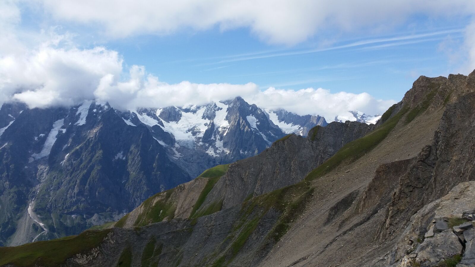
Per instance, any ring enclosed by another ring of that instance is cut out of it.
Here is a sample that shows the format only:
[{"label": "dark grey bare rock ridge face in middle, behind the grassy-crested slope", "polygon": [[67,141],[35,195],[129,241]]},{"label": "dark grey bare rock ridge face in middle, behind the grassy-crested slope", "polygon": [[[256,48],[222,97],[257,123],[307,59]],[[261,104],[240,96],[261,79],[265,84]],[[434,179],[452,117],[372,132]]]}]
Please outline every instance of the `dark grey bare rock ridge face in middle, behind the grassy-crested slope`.
[{"label": "dark grey bare rock ridge face in middle, behind the grassy-crested slope", "polygon": [[307,138],[289,135],[278,140],[256,157],[232,163],[202,209],[216,201],[223,201],[223,208],[232,207],[246,198],[295,184],[343,145],[372,129],[358,122],[334,122],[326,127],[316,126]]}]

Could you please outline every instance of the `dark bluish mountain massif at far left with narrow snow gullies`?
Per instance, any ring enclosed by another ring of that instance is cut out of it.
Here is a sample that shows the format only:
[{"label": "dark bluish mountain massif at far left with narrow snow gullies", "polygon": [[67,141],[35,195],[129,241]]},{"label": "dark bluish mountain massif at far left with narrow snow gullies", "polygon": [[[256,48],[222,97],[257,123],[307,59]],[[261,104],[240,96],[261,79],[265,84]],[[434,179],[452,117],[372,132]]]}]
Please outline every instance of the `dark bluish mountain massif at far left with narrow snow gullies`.
[{"label": "dark bluish mountain massif at far left with narrow snow gullies", "polygon": [[25,109],[0,143],[3,245],[77,234],[190,180],[146,127],[106,104]]}]

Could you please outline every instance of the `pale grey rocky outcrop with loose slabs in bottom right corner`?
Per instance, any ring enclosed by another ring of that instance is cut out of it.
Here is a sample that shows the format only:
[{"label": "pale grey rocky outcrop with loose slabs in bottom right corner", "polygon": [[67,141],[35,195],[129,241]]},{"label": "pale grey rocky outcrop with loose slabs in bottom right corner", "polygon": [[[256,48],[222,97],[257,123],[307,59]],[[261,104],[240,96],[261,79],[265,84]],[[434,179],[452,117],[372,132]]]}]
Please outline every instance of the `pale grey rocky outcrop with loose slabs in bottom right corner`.
[{"label": "pale grey rocky outcrop with loose slabs in bottom right corner", "polygon": [[475,181],[462,182],[447,195],[424,206],[392,250],[402,257],[394,267],[475,265]]}]

